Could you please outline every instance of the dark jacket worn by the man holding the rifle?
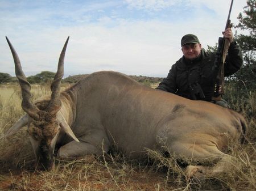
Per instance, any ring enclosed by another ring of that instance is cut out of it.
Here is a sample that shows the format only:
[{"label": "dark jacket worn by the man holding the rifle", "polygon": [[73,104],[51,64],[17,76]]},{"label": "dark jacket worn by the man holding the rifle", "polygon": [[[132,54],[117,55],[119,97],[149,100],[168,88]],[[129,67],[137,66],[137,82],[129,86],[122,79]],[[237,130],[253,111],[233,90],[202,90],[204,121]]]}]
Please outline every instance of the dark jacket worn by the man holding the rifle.
[{"label": "dark jacket worn by the man holding the rifle", "polygon": [[[168,91],[188,99],[212,100],[214,88],[214,71],[212,70],[215,59],[215,53],[207,53],[204,49],[195,60],[187,60],[184,56],[172,65],[167,78],[159,84],[156,89]],[[225,77],[236,73],[242,66],[241,48],[232,42],[228,50],[228,56],[225,61]],[[191,87],[200,85],[204,96],[196,94],[191,95]]]}]

